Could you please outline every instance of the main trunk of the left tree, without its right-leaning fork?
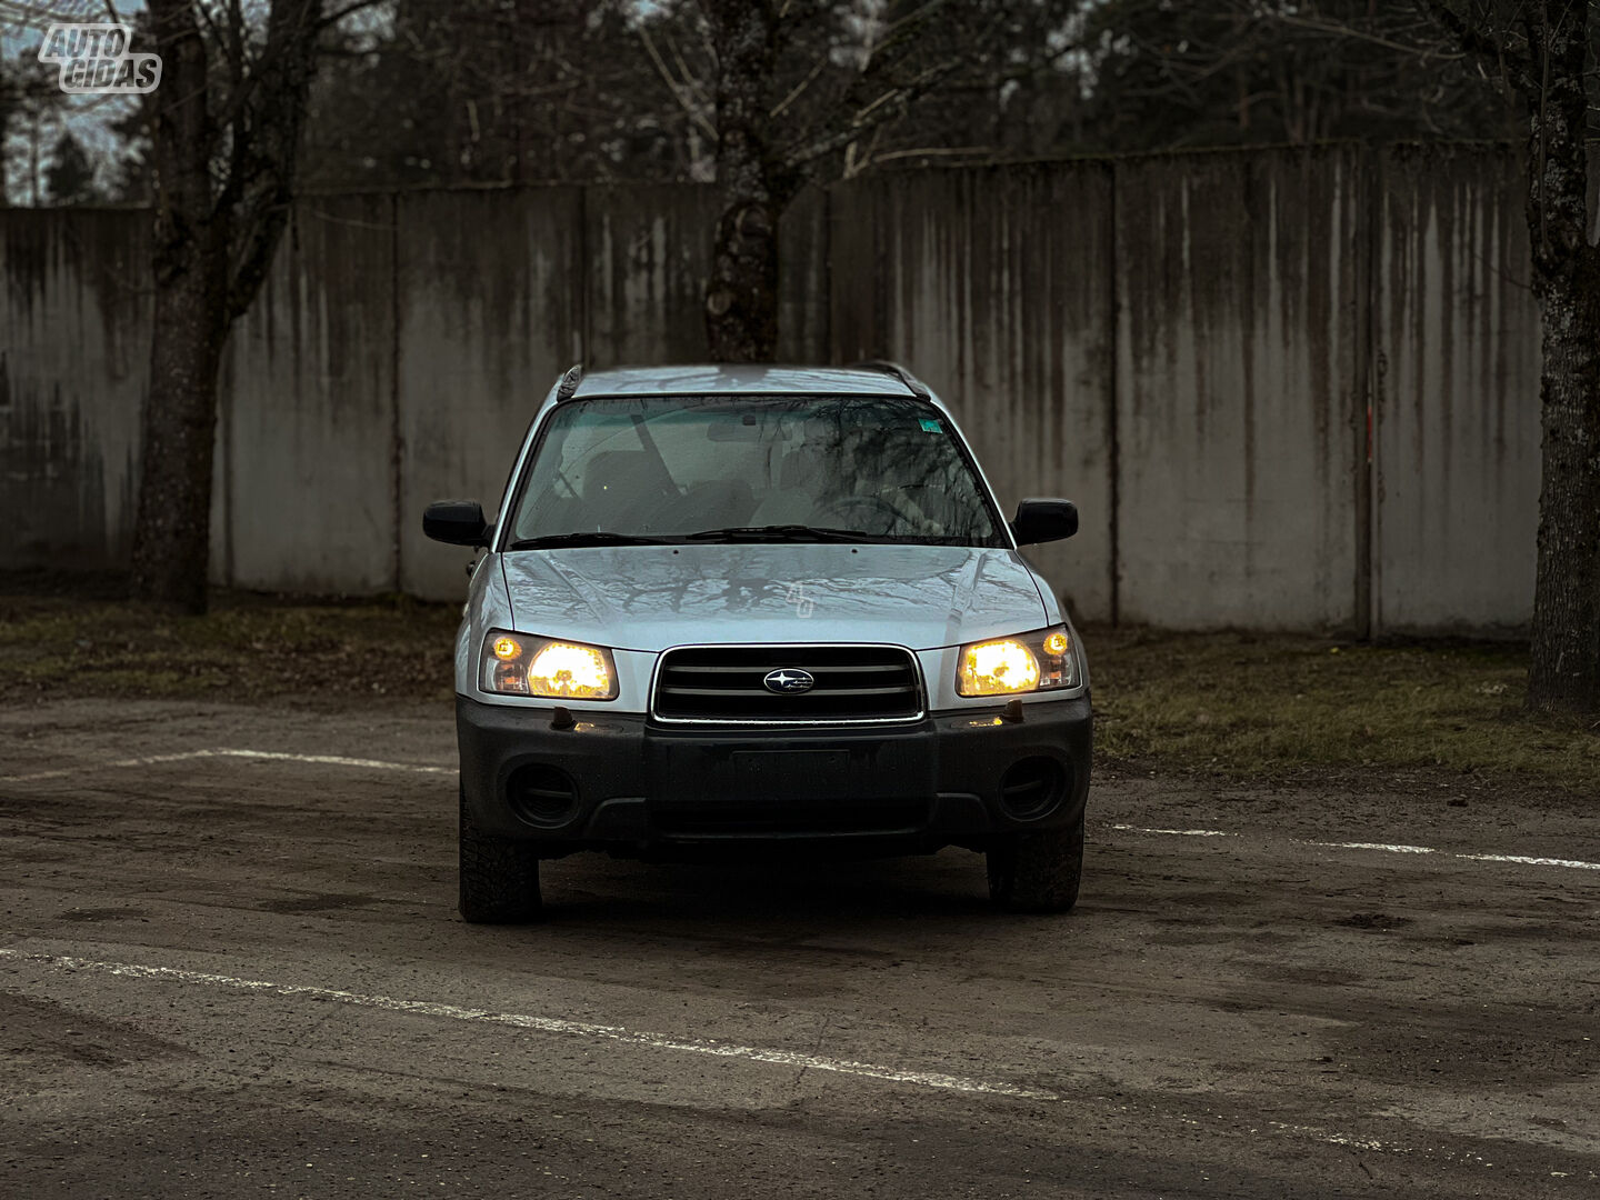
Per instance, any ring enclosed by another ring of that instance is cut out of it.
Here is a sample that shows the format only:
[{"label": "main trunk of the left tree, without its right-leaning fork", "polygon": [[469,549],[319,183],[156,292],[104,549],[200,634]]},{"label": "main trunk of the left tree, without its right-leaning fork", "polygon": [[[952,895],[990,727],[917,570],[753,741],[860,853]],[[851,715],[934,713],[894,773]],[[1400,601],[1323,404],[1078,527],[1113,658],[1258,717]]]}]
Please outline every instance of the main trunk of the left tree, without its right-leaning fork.
[{"label": "main trunk of the left tree, without its right-leaning fork", "polygon": [[205,611],[216,370],[227,336],[227,229],[211,211],[205,45],[187,0],[152,0],[155,315],[133,538],[134,600]]}]

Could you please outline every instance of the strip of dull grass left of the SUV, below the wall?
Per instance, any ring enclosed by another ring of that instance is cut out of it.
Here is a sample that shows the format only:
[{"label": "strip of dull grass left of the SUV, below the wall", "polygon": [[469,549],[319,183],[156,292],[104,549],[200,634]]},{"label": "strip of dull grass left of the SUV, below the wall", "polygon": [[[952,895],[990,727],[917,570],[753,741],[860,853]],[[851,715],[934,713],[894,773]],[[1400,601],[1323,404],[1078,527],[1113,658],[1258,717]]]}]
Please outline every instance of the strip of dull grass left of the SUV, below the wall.
[{"label": "strip of dull grass left of the SUV, below the wall", "polygon": [[205,616],[93,589],[0,592],[0,701],[112,696],[310,702],[454,693],[459,605],[213,592]]}]

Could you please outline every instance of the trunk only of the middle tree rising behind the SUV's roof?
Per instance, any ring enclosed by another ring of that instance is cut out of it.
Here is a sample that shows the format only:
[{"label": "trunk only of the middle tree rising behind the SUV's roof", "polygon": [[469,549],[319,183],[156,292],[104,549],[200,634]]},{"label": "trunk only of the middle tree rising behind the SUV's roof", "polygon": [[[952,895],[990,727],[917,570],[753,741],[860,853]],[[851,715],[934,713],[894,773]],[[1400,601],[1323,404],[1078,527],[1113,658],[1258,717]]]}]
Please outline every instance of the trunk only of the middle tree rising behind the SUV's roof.
[{"label": "trunk only of the middle tree rising behind the SUV's roof", "polygon": [[706,282],[706,344],[723,363],[778,352],[778,221],[792,198],[768,146],[776,54],[770,0],[707,0],[717,46],[717,186],[722,216]]}]

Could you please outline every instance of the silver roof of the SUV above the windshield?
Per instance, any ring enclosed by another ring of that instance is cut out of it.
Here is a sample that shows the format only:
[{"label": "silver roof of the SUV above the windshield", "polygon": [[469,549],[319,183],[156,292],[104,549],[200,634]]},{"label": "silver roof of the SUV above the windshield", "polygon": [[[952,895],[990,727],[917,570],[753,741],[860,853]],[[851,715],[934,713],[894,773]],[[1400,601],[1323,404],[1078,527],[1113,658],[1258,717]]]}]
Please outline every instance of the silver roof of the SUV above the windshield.
[{"label": "silver roof of the SUV above the windshield", "polygon": [[595,395],[915,395],[928,389],[891,363],[869,366],[614,366],[584,371],[571,398]]}]

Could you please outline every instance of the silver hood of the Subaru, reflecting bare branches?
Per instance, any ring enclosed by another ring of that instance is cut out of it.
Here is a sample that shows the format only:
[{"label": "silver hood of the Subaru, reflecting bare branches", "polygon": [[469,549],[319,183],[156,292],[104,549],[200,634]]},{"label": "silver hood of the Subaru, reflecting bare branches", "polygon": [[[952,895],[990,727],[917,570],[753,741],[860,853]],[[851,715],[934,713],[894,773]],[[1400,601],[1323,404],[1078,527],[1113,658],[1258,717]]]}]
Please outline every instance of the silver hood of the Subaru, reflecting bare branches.
[{"label": "silver hood of the Subaru, reflecting bare branches", "polygon": [[952,646],[1038,629],[1016,550],[714,544],[518,550],[501,558],[517,629],[659,651],[686,642]]}]

